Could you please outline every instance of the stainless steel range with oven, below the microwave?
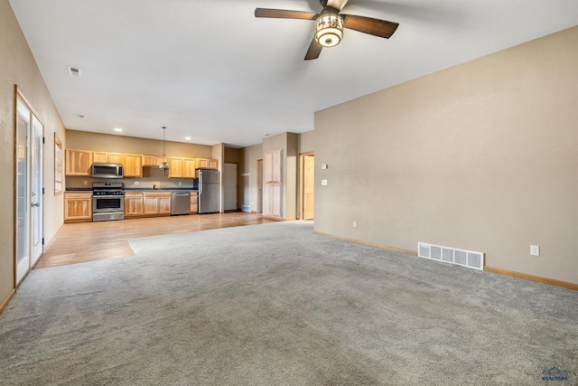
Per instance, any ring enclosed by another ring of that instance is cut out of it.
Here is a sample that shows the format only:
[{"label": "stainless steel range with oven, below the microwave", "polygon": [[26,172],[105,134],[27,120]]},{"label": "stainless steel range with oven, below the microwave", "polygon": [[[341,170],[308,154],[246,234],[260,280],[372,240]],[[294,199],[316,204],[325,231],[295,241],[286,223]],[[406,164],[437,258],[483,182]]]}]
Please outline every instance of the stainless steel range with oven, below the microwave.
[{"label": "stainless steel range with oven, below the microwave", "polygon": [[92,183],[92,221],[125,219],[123,183]]}]

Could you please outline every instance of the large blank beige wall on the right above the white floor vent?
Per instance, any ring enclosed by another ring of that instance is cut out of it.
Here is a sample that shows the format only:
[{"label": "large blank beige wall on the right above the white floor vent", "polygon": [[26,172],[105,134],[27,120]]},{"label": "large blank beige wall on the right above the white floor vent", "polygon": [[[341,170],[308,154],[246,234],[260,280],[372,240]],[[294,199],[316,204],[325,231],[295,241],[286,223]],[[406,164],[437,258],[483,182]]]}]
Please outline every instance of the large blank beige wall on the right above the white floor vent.
[{"label": "large blank beige wall on the right above the white floor vent", "polygon": [[576,42],[573,27],[316,113],[315,231],[578,283]]}]

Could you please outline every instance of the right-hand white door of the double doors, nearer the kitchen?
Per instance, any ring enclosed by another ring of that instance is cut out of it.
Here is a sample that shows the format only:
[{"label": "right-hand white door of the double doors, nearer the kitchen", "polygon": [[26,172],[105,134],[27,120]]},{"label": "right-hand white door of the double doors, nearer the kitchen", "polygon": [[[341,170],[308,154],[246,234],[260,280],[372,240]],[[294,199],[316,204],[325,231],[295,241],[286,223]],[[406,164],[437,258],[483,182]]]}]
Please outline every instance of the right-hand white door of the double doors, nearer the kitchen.
[{"label": "right-hand white door of the double doors, nearer the kitchen", "polygon": [[32,165],[32,173],[30,175],[30,229],[31,229],[31,261],[30,266],[33,267],[36,261],[42,256],[42,138],[44,137],[44,127],[38,118],[33,116],[33,134],[31,140],[32,152],[30,152],[30,164]]}]

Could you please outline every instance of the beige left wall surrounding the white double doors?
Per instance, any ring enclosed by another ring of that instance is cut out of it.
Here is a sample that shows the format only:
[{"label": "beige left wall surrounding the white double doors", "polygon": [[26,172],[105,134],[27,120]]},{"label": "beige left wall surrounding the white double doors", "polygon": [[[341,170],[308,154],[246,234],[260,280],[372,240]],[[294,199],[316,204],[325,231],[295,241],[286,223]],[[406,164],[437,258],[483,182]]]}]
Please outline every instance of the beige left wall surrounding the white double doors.
[{"label": "beige left wall surrounding the white double doors", "polygon": [[8,0],[0,0],[0,305],[14,288],[14,84],[44,124],[44,223],[48,244],[62,224],[62,195],[54,195],[54,133],[64,127]]}]

